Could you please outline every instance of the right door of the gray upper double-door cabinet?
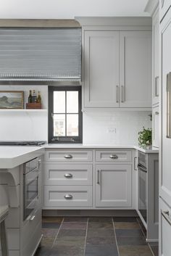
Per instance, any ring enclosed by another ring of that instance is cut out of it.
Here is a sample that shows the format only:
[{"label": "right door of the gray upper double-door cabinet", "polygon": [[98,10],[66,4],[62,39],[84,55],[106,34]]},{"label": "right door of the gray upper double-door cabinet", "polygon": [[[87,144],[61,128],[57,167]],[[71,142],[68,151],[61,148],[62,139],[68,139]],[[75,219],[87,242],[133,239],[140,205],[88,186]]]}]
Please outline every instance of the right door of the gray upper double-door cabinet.
[{"label": "right door of the gray upper double-door cabinet", "polygon": [[151,31],[120,32],[120,107],[151,107]]}]

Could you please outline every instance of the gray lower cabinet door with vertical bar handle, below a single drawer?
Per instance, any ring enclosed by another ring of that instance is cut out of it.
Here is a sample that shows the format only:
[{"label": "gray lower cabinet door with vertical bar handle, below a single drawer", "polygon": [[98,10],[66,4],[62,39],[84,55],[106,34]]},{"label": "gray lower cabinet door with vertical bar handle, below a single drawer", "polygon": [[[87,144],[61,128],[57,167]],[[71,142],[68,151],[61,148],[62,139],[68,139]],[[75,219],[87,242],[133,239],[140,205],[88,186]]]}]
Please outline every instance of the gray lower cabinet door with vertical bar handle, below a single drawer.
[{"label": "gray lower cabinet door with vertical bar handle, below a single drawer", "polygon": [[131,165],[96,165],[96,207],[131,207]]}]

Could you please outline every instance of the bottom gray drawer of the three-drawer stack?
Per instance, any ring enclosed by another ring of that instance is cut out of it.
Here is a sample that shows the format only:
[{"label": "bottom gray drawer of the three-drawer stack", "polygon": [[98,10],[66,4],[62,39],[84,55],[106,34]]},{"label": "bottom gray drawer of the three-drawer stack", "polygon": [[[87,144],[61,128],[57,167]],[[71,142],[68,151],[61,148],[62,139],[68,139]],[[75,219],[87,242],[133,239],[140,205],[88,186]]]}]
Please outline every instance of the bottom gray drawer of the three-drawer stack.
[{"label": "bottom gray drawer of the three-drawer stack", "polygon": [[45,207],[91,207],[92,186],[44,186]]}]

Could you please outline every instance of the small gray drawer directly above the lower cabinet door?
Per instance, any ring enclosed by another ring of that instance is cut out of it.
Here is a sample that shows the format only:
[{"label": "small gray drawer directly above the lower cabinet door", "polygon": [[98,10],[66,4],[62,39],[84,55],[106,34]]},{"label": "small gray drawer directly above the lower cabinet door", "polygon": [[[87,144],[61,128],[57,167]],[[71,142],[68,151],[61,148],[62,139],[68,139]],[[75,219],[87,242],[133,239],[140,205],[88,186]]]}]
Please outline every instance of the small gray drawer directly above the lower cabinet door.
[{"label": "small gray drawer directly above the lower cabinet door", "polygon": [[125,162],[131,161],[131,151],[121,151],[121,150],[96,150],[96,161],[107,161],[107,162]]}]

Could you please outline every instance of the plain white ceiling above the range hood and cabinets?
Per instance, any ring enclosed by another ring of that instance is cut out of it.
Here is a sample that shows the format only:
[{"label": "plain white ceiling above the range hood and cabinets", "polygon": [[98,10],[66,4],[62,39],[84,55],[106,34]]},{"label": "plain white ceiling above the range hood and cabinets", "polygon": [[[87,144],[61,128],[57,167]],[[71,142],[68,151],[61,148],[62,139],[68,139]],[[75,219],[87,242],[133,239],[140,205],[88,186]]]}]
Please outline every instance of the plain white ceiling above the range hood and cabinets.
[{"label": "plain white ceiling above the range hood and cabinets", "polygon": [[0,0],[1,19],[72,19],[75,16],[149,16],[148,0]]}]

